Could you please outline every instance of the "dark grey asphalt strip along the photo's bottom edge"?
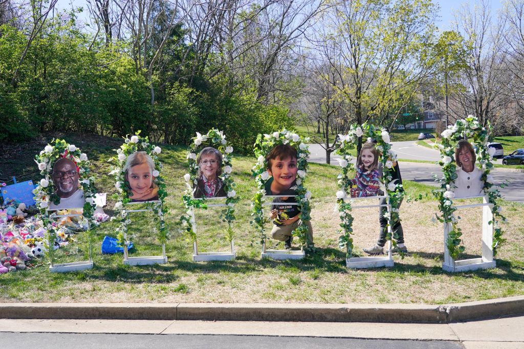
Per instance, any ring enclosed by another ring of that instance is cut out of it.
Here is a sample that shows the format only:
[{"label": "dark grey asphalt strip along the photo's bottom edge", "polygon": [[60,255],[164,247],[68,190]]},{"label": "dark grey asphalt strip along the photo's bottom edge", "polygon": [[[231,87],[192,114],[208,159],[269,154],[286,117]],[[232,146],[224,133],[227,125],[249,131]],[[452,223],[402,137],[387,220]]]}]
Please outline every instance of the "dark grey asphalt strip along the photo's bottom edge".
[{"label": "dark grey asphalt strip along the photo's bottom edge", "polygon": [[[1,333],[3,343],[21,348],[463,348],[451,341],[402,341],[352,338],[311,338],[249,335],[188,334],[77,334],[77,333]],[[74,344],[73,344],[74,343]]]}]

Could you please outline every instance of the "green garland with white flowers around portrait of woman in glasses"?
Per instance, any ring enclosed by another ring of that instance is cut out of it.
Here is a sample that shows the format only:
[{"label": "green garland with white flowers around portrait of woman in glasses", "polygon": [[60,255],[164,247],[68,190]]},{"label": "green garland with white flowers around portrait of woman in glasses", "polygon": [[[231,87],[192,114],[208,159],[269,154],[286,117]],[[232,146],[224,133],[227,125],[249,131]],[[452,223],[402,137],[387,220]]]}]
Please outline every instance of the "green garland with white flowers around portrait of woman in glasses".
[{"label": "green garland with white flowers around portrait of woman in glasses", "polygon": [[182,201],[185,206],[185,214],[180,216],[180,222],[188,234],[192,242],[196,241],[196,232],[193,230],[193,210],[196,208],[207,209],[208,206],[205,203],[205,197],[194,199],[193,184],[196,185],[196,179],[198,178],[198,153],[205,147],[214,147],[222,153],[222,174],[220,179],[224,184],[224,190],[226,192],[226,205],[227,207],[221,211],[221,218],[227,223],[227,234],[226,237],[229,242],[233,241],[233,222],[235,221],[235,204],[240,201],[240,198],[235,191],[235,183],[231,173],[233,172],[233,147],[227,145],[227,140],[224,133],[215,128],[210,129],[205,135],[196,133],[196,137],[192,138],[191,145],[188,149],[187,163],[189,172],[184,174],[184,181],[187,189],[182,195]]}]

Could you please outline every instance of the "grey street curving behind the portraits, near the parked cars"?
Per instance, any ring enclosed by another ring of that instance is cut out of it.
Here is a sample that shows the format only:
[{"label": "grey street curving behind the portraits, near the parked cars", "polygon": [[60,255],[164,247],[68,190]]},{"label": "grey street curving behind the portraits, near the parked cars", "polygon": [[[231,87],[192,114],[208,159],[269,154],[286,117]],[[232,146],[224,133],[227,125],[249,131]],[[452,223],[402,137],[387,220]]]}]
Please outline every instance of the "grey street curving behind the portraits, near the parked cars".
[{"label": "grey street curving behind the portraits, near the parked cars", "polygon": [[[318,144],[311,144],[310,162],[326,163],[325,150]],[[397,151],[399,159],[436,161],[439,152],[433,149],[418,146],[414,141],[393,142],[392,149]],[[331,165],[338,165],[338,156],[331,156]],[[499,159],[498,162],[501,160]],[[353,161],[354,162],[354,161]],[[434,163],[399,161],[402,179],[411,180],[430,186],[436,186],[433,174],[442,176],[440,166]],[[524,173],[510,169],[495,168],[491,172],[497,185],[506,183],[505,188],[500,188],[503,198],[508,201],[524,202]]]}]

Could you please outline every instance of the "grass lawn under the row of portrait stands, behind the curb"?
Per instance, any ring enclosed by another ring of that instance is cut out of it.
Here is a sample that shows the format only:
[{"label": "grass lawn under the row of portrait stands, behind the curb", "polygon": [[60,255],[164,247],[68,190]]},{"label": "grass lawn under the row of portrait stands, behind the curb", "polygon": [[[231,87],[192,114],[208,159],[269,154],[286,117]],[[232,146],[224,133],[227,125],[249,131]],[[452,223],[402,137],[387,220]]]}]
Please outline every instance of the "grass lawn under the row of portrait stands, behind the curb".
[{"label": "grass lawn under the row of portrait stands, behind the curb", "polygon": [[[95,186],[100,192],[112,193],[114,185],[107,176],[107,159],[122,139],[66,135],[94,161],[97,174]],[[0,158],[1,176],[21,173],[20,180],[38,180],[32,155],[49,139],[40,138],[31,144],[18,145]],[[299,303],[449,303],[524,294],[524,205],[504,202],[508,223],[503,225],[507,243],[497,255],[498,268],[447,274],[442,271],[442,224],[431,221],[437,202],[431,188],[416,182],[405,183],[410,197],[422,194],[422,200],[405,200],[400,209],[406,245],[410,254],[401,259],[395,255],[392,268],[349,270],[345,254],[337,246],[339,217],[334,212],[338,168],[311,164],[306,185],[313,194],[312,225],[316,254],[300,261],[260,259],[258,236],[249,224],[250,198],[255,191],[250,170],[255,159],[236,156],[233,174],[236,190],[242,197],[237,205],[235,245],[237,259],[226,262],[193,262],[192,244],[178,233],[177,221],[182,213],[182,176],[185,173],[185,152],[180,147],[162,146],[160,155],[165,164],[163,177],[170,197],[171,241],[167,245],[169,263],[155,266],[125,266],[122,255],[102,255],[100,243],[104,235],[115,236],[116,222],[100,226],[94,246],[92,270],[69,274],[50,274],[47,266],[0,275],[0,301],[3,302],[299,302]],[[409,201],[409,202],[408,202]],[[113,214],[114,202],[108,200],[106,213]],[[227,250],[225,224],[219,211],[200,211],[198,225],[199,249]],[[135,249],[130,256],[159,255],[160,247],[151,237],[154,229],[150,216],[137,213],[130,234]],[[375,243],[378,217],[375,208],[354,211],[355,252]],[[461,227],[466,246],[465,258],[481,253],[481,210],[464,209]],[[268,227],[269,228],[269,227]],[[82,240],[80,234],[79,240]],[[269,244],[273,244],[270,241]],[[283,246],[282,244],[280,245]],[[85,246],[78,243],[60,249],[62,261],[85,256]],[[67,255],[66,253],[69,253]]]}]

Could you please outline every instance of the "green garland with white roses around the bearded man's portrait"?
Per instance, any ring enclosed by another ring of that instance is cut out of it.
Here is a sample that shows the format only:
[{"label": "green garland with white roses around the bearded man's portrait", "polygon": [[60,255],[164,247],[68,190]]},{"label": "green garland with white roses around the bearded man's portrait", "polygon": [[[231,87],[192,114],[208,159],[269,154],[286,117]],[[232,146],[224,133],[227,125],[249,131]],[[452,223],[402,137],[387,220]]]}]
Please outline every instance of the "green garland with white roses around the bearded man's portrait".
[{"label": "green garland with white roses around the bearded man's portrait", "polygon": [[[60,203],[60,198],[56,194],[57,188],[51,179],[51,172],[54,163],[61,158],[68,158],[77,165],[79,183],[82,186],[85,198],[82,211],[84,221],[81,224],[89,224],[89,227],[97,225],[96,220],[93,218],[94,210],[96,209],[96,189],[93,186],[94,177],[91,176],[88,156],[75,145],[68,144],[63,139],[51,140],[51,143],[40,151],[39,155],[35,156],[35,161],[43,178],[40,180],[39,186],[33,190],[36,206],[40,210],[39,219],[42,220],[43,227],[46,229],[46,242],[51,264],[54,263],[53,245],[57,238],[59,227],[56,222],[50,219],[47,210],[51,202],[55,205]],[[92,243],[91,234],[88,236],[88,243]]]}]

